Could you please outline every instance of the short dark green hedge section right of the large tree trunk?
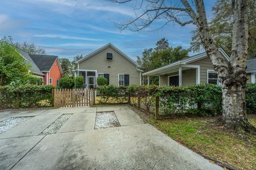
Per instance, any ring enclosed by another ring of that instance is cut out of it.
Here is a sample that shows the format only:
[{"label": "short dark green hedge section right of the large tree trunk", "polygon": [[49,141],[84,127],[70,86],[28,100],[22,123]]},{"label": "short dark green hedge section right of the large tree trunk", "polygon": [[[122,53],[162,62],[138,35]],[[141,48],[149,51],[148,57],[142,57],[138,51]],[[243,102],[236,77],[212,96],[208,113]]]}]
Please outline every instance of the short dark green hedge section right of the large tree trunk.
[{"label": "short dark green hedge section right of the large tree trunk", "polygon": [[256,113],[256,84],[246,84],[245,101],[247,113]]}]

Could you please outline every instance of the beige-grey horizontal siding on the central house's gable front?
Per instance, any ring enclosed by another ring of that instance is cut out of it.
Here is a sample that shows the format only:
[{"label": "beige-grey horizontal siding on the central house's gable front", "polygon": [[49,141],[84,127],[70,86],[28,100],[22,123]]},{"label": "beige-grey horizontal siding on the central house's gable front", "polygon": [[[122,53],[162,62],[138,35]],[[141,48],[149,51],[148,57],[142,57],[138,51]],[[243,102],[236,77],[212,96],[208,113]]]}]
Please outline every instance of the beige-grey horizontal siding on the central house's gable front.
[{"label": "beige-grey horizontal siding on the central house's gable front", "polygon": [[[106,53],[113,53],[113,60],[106,60]],[[140,85],[137,67],[111,47],[79,63],[79,70],[97,70],[97,73],[109,74],[109,83],[115,85],[118,85],[118,74],[129,74],[129,83]]]}]

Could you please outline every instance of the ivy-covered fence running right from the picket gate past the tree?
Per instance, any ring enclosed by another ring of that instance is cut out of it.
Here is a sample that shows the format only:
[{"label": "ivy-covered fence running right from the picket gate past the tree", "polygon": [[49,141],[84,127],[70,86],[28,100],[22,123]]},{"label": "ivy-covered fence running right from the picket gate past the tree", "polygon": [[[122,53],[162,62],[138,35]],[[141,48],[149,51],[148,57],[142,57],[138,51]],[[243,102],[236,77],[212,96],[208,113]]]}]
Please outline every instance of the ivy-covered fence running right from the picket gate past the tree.
[{"label": "ivy-covered fence running right from the picket gate past the tree", "polygon": [[[100,104],[129,103],[165,115],[216,115],[222,111],[221,87],[195,86],[102,86],[97,89]],[[256,84],[246,85],[247,113],[256,113]]]}]

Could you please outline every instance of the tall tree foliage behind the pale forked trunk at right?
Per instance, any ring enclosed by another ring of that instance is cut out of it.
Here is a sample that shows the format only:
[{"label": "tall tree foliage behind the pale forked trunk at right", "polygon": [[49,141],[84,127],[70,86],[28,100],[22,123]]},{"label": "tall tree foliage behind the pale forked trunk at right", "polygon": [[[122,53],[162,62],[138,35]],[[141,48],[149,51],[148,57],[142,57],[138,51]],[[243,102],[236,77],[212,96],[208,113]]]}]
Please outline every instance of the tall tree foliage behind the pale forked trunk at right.
[{"label": "tall tree foliage behind the pale forked trunk at right", "polygon": [[[233,7],[231,0],[217,0],[212,7],[213,19],[209,23],[210,32],[214,43],[221,47],[225,52],[231,54],[232,29],[233,29]],[[198,52],[201,49],[201,40],[198,29],[192,31],[193,37],[190,43],[192,52]],[[249,41],[248,58],[256,56],[256,1],[249,0]]]}]

